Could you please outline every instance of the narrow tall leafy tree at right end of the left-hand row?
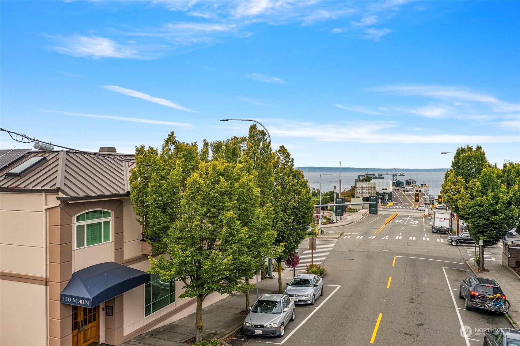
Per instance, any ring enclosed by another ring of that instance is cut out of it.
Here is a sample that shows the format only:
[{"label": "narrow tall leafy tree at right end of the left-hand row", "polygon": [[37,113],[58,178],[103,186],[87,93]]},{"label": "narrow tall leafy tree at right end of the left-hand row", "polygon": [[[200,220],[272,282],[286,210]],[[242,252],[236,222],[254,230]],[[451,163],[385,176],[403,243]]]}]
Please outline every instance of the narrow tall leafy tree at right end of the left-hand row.
[{"label": "narrow tall leafy tree at right end of the left-hand row", "polygon": [[294,159],[283,146],[276,151],[274,172],[273,228],[277,232],[275,244],[283,245],[283,251],[276,257],[278,291],[282,293],[281,262],[305,239],[313,221],[314,204],[303,172],[294,168]]}]

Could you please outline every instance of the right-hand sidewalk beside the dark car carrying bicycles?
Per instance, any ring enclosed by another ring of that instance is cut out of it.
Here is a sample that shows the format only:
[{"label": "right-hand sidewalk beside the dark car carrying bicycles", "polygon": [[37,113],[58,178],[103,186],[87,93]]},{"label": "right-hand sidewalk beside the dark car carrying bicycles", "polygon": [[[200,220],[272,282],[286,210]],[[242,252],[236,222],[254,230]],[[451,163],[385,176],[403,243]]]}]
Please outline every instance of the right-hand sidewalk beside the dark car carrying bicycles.
[{"label": "right-hand sidewalk beside the dark car carrying bicycles", "polygon": [[520,330],[520,279],[502,266],[502,262],[486,261],[485,268],[489,272],[480,272],[472,267],[473,261],[466,261],[475,276],[495,279],[504,291],[504,295],[511,303],[509,308],[509,320],[513,327]]}]

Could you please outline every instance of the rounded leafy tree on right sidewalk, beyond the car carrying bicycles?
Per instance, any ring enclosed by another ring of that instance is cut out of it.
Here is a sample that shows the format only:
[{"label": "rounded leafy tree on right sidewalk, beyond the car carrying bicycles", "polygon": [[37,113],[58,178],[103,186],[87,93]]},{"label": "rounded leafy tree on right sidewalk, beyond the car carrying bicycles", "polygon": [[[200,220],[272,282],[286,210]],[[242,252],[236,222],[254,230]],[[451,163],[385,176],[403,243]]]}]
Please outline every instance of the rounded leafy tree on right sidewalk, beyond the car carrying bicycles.
[{"label": "rounded leafy tree on right sidewalk, beyond the car carrying bicycles", "polygon": [[[501,176],[500,169],[488,166],[457,197],[460,216],[466,221],[471,236],[475,242],[484,243],[480,254],[486,246],[497,244],[517,224],[520,189],[517,182],[508,187],[508,183],[500,180]],[[480,269],[485,269],[482,256]]]}]

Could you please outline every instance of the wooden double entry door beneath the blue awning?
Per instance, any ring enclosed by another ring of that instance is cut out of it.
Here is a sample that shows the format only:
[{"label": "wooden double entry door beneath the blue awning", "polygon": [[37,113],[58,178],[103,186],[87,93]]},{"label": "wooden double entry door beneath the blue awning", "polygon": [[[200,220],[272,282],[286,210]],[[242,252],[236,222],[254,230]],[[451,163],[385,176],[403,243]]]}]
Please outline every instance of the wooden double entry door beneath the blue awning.
[{"label": "wooden double entry door beneath the blue awning", "polygon": [[99,339],[99,306],[72,305],[72,346],[86,346]]}]

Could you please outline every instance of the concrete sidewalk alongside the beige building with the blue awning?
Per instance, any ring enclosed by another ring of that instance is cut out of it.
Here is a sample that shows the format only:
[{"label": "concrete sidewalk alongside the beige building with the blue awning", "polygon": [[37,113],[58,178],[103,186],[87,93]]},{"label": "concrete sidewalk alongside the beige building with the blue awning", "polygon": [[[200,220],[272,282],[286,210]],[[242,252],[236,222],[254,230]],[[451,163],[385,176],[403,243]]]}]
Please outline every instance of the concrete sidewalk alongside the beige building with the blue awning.
[{"label": "concrete sidewalk alongside the beige building with the blue awning", "polygon": [[[292,277],[292,270],[282,271],[282,288],[285,287],[285,283],[291,281]],[[275,290],[278,290],[278,276],[258,283],[258,297]],[[251,304],[256,301],[256,289],[250,291],[250,301]],[[235,293],[202,309],[203,338],[220,339],[225,342],[230,335],[242,327],[246,315],[240,312],[244,309],[245,295],[242,293]],[[195,335],[195,313],[192,313],[178,321],[141,334],[120,346],[186,346],[184,342]]]}]

